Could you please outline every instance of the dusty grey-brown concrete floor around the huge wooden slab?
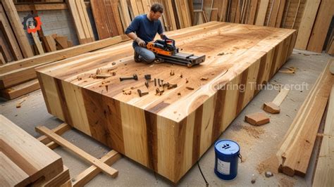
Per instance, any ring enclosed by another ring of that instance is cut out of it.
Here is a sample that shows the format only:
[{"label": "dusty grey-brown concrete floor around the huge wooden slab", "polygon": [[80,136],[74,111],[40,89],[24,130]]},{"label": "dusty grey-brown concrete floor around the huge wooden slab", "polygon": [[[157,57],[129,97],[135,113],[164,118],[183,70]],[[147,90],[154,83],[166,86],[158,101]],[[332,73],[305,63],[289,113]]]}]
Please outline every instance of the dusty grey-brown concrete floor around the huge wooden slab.
[{"label": "dusty grey-brown concrete floor around the huge wooden slab", "polygon": [[[271,122],[261,127],[253,127],[244,121],[245,115],[261,111],[264,102],[272,101],[278,94],[277,90],[263,90],[251,101],[242,113],[230,124],[220,138],[227,138],[240,144],[241,155],[244,162],[239,162],[238,174],[233,181],[223,181],[214,174],[214,147],[203,155],[199,161],[202,172],[210,186],[311,186],[313,168],[316,157],[313,154],[309,172],[305,178],[299,176],[290,177],[276,172],[276,161],[274,156],[278,150],[280,142],[287,129],[290,127],[299,107],[302,105],[309,90],[316,81],[318,75],[326,65],[330,57],[326,54],[311,53],[308,51],[294,50],[292,56],[285,64],[285,67],[297,67],[295,74],[290,75],[278,72],[271,84],[307,84],[304,89],[296,86],[290,90],[285,101],[280,105],[281,112],[278,115],[270,115]],[[21,108],[16,108],[16,103],[22,102]],[[0,100],[0,113],[9,120],[25,129],[32,136],[38,137],[35,132],[37,125],[44,125],[54,128],[61,121],[49,115],[44,104],[42,92],[35,91],[27,96],[22,96],[13,101]],[[101,157],[109,151],[109,148],[102,146],[97,141],[92,140],[79,131],[70,130],[63,137],[74,143],[76,146],[87,151],[95,157]],[[316,143],[316,150],[318,142]],[[314,152],[316,152],[314,150]],[[56,148],[56,153],[63,157],[64,164],[70,168],[70,176],[76,176],[87,167],[89,163],[82,161],[64,150]],[[116,179],[112,179],[106,174],[99,174],[87,186],[171,186],[163,177],[145,169],[126,157],[118,160],[113,167],[118,169],[119,174]],[[271,171],[274,176],[266,178],[264,172]],[[254,184],[251,183],[255,179]],[[187,174],[180,180],[178,186],[205,186],[199,168],[194,165]]]}]

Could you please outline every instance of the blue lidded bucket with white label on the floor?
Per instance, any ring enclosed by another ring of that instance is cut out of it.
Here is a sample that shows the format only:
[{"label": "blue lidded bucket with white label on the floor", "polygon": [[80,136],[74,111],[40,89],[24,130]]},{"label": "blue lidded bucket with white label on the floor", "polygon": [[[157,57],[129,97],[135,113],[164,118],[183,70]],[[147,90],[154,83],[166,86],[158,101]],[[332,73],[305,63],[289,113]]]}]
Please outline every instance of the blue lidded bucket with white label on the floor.
[{"label": "blue lidded bucket with white label on the floor", "polygon": [[230,181],[237,176],[240,146],[235,141],[218,140],[214,144],[216,153],[214,172],[223,180]]}]

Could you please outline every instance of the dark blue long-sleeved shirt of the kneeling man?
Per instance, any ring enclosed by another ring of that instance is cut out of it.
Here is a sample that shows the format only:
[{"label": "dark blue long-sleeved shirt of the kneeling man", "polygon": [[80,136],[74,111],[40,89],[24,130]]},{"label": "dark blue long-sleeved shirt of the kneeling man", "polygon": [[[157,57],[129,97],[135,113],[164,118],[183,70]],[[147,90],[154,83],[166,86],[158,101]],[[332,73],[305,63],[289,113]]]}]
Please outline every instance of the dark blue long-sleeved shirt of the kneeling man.
[{"label": "dark blue long-sleeved shirt of the kneeling man", "polygon": [[[147,14],[142,14],[133,19],[129,27],[125,30],[125,34],[129,34],[130,32],[135,32],[137,37],[149,42],[153,41],[156,32],[162,34],[163,29],[160,20],[150,21],[149,18],[147,18]],[[137,42],[134,41],[134,45],[136,44]]]}]

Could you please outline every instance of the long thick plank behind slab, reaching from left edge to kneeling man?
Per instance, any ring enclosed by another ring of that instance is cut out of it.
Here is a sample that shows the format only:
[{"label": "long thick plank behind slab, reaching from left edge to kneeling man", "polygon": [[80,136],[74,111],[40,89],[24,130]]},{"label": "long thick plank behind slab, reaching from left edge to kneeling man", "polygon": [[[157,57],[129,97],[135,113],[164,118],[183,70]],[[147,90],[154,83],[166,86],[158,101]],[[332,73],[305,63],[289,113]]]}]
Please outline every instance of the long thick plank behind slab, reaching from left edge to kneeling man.
[{"label": "long thick plank behind slab, reaching from left edge to kneeling man", "polygon": [[5,89],[22,82],[26,82],[27,80],[34,79],[36,77],[34,69],[39,65],[78,56],[82,53],[87,53],[89,51],[101,49],[106,46],[118,44],[121,41],[126,40],[128,40],[128,37],[113,37],[95,41],[90,44],[83,44],[60,51],[45,53],[43,55],[34,56],[32,58],[25,58],[23,60],[18,60],[13,63],[2,65],[0,67],[0,89]]}]

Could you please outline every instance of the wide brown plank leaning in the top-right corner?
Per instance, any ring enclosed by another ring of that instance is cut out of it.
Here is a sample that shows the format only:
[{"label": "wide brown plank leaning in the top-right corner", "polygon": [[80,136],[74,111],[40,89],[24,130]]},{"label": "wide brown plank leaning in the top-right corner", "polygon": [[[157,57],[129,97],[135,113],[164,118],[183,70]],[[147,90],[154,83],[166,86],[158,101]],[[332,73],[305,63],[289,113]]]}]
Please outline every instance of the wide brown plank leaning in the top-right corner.
[{"label": "wide brown plank leaning in the top-right corner", "polygon": [[316,15],[316,21],[309,38],[309,44],[307,44],[307,51],[314,51],[321,53],[323,51],[323,44],[326,40],[326,30],[330,27],[330,21],[334,15],[333,1],[325,0],[321,1],[318,14]]}]

